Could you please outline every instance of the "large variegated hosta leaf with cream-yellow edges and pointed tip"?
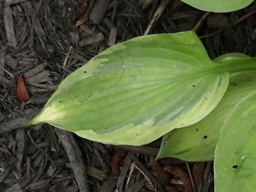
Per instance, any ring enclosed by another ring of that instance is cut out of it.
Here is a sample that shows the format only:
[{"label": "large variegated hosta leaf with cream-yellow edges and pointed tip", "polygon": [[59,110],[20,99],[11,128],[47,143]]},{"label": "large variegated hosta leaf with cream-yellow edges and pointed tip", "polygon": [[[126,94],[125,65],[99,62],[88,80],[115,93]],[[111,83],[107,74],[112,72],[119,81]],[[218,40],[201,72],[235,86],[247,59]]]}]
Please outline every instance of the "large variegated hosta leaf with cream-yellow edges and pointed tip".
[{"label": "large variegated hosta leaf with cream-yellow edges and pointed tip", "polygon": [[70,74],[30,124],[143,145],[212,111],[228,85],[216,68],[192,31],[133,38]]}]

